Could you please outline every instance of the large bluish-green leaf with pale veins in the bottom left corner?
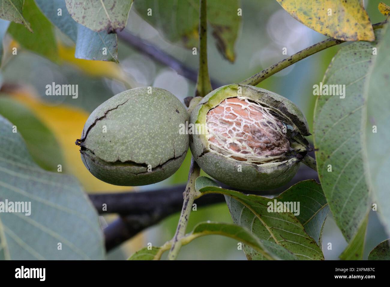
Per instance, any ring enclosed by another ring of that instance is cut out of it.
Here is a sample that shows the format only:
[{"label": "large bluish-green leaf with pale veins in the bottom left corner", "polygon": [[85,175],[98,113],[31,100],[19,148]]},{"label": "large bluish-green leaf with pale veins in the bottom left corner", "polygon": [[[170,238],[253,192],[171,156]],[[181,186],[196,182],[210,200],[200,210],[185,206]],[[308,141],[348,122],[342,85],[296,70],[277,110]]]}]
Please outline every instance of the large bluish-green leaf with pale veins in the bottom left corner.
[{"label": "large bluish-green leaf with pale veins in the bottom left corner", "polygon": [[0,116],[0,201],[30,202],[31,214],[0,213],[0,259],[104,259],[96,210],[78,182],[39,168],[12,130]]}]

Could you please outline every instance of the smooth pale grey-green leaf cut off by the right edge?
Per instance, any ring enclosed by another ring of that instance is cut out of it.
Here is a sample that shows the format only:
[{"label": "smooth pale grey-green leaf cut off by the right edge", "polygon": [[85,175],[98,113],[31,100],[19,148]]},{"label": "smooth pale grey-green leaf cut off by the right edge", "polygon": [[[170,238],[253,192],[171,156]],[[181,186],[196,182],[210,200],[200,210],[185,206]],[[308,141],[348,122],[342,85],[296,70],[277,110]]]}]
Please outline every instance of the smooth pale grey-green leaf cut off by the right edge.
[{"label": "smooth pale grey-green leaf cut off by the right edge", "polygon": [[364,168],[379,218],[390,234],[390,28],[387,24],[364,89],[366,106],[362,109]]}]

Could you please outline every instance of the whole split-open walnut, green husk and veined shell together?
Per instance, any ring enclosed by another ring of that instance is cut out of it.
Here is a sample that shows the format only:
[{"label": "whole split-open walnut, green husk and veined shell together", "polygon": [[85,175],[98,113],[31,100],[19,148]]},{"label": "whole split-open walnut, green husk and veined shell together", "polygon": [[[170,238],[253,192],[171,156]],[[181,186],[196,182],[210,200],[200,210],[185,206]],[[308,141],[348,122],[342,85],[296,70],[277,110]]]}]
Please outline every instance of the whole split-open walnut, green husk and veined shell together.
[{"label": "whole split-open walnut, green husk and veined shell together", "polygon": [[200,168],[237,189],[286,184],[310,150],[299,107],[259,87],[230,84],[215,89],[192,110],[190,123],[198,126],[190,148]]}]

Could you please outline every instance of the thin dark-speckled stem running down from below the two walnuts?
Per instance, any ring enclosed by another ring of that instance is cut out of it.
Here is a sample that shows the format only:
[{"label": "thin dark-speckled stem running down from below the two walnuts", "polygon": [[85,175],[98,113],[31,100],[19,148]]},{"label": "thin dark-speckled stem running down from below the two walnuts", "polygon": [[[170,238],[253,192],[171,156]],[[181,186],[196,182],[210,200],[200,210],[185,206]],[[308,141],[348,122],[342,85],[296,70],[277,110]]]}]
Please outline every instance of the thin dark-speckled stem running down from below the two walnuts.
[{"label": "thin dark-speckled stem running down from below the two walnuts", "polygon": [[180,251],[180,248],[183,245],[181,239],[186,234],[186,228],[188,225],[188,219],[190,217],[190,212],[192,209],[193,202],[196,198],[199,198],[202,195],[195,190],[195,180],[199,175],[200,175],[200,168],[192,157],[187,186],[183,193],[183,197],[184,197],[183,208],[181,210],[179,223],[177,224],[176,233],[172,239],[171,249],[168,254],[169,260],[176,259]]}]

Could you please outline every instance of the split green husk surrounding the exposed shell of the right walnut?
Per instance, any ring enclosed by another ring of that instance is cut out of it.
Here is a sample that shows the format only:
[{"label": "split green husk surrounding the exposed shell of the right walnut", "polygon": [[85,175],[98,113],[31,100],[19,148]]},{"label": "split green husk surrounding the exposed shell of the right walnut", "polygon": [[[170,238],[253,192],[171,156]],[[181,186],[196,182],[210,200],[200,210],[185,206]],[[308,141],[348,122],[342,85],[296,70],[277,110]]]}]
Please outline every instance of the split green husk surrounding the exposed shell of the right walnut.
[{"label": "split green husk surrounding the exposed shell of the right walnut", "polygon": [[237,189],[268,190],[289,182],[298,171],[300,161],[311,150],[303,137],[310,135],[303,113],[283,96],[254,86],[231,84],[204,97],[191,112],[190,123],[197,128],[205,126],[207,113],[228,98],[247,99],[266,107],[275,119],[284,123],[289,149],[277,156],[265,156],[252,161],[236,160],[210,147],[206,128],[206,133],[201,130],[192,132],[190,139],[191,153],[200,168],[223,184]]}]

